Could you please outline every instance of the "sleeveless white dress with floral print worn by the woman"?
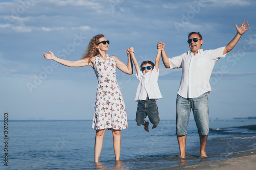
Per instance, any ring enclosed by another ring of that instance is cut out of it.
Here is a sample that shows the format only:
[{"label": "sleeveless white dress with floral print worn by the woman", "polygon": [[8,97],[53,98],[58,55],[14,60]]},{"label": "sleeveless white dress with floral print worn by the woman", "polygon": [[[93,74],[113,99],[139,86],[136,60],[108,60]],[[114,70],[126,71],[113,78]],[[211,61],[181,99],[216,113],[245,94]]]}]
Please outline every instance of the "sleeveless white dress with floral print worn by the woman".
[{"label": "sleeveless white dress with floral print worn by the woman", "polygon": [[116,62],[106,55],[106,62],[96,56],[93,62],[98,79],[92,129],[116,129],[128,127],[122,94],[116,81]]}]

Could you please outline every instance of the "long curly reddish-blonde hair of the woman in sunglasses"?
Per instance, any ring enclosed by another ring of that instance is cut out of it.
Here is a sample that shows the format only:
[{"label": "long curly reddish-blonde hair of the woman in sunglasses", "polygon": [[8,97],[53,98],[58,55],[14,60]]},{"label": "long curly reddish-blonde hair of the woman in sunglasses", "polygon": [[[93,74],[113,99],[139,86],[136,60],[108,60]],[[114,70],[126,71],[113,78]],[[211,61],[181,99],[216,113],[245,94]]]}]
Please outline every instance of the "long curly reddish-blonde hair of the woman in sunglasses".
[{"label": "long curly reddish-blonde hair of the woman in sunglasses", "polygon": [[86,47],[86,50],[83,51],[82,59],[88,58],[90,61],[92,57],[98,55],[98,50],[96,48],[96,44],[98,43],[99,39],[101,37],[104,37],[103,34],[95,35],[89,42],[89,44]]}]

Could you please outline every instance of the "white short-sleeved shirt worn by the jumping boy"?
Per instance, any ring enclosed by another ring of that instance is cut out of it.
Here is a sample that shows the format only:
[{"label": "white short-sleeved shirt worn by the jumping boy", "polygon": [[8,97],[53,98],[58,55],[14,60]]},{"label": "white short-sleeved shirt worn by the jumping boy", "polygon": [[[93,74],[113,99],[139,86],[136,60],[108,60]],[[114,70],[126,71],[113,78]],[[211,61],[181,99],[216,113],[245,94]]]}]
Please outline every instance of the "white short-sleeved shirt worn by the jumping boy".
[{"label": "white short-sleeved shirt worn by the jumping boy", "polygon": [[146,94],[148,94],[149,99],[159,100],[162,98],[160,89],[158,87],[158,71],[154,68],[152,71],[147,72],[143,75],[142,71],[139,71],[136,74],[137,79],[139,80],[139,85],[137,88],[135,101],[146,100]]}]

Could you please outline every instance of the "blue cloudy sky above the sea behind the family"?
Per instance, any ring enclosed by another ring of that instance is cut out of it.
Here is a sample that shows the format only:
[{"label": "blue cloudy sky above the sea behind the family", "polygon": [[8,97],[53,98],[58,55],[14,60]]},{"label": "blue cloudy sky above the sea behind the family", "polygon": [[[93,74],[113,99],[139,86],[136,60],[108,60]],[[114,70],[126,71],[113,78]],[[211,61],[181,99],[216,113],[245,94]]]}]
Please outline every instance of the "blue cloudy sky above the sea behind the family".
[{"label": "blue cloudy sky above the sea behind the family", "polygon": [[[138,62],[155,60],[157,42],[169,57],[189,50],[187,34],[201,32],[203,50],[225,46],[243,20],[250,24],[233,50],[220,59],[210,79],[209,117],[256,116],[255,1],[2,1],[0,3],[0,113],[12,120],[93,118],[97,79],[91,67],[70,68],[46,60],[81,59],[96,34],[110,40],[108,54],[127,62],[133,46]],[[134,120],[138,81],[117,72],[128,119]],[[175,119],[181,69],[160,62],[161,119]],[[192,115],[192,113],[191,113]],[[3,116],[0,117],[3,119]]]}]

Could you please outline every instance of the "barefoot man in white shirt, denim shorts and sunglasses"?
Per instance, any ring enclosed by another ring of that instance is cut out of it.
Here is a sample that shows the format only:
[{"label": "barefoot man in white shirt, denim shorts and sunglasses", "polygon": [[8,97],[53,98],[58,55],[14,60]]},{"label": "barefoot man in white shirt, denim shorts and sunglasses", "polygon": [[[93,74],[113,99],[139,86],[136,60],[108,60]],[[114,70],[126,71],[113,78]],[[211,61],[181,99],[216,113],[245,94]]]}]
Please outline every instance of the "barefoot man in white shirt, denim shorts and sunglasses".
[{"label": "barefoot man in white shirt, denim shorts and sunglasses", "polygon": [[237,28],[237,34],[225,47],[216,50],[202,50],[203,38],[198,32],[188,34],[190,51],[180,56],[169,58],[164,50],[164,43],[158,42],[162,49],[161,55],[166,68],[182,68],[182,77],[176,101],[176,135],[179,143],[180,158],[185,158],[187,125],[189,114],[193,110],[195,122],[200,137],[200,156],[206,157],[205,145],[209,133],[208,95],[210,75],[215,62],[232,50],[241,36],[250,28],[248,22],[243,21]]}]

